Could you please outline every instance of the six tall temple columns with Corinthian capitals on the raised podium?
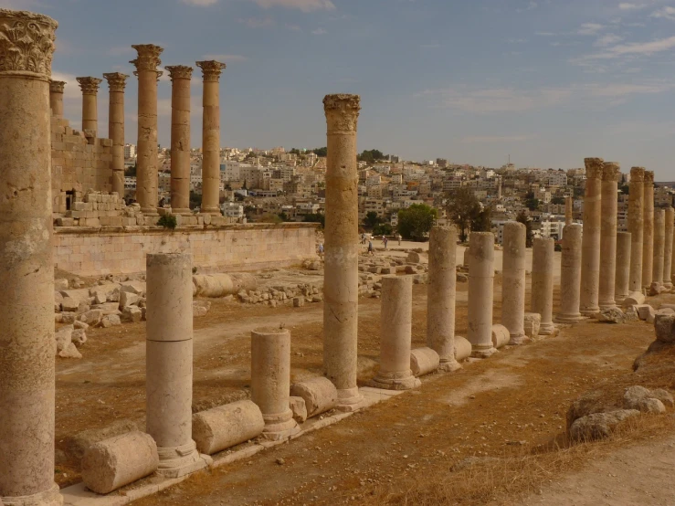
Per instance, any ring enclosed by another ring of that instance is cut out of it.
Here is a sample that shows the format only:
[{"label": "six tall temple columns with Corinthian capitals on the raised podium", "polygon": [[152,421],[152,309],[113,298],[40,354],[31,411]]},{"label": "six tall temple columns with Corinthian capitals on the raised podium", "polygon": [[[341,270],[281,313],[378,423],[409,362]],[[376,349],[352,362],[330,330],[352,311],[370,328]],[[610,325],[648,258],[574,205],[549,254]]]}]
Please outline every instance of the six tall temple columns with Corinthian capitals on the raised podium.
[{"label": "six tall temple columns with Corinthian capitals on the raised podium", "polygon": [[[136,200],[142,213],[156,216],[158,194],[157,161],[157,81],[162,71],[162,47],[153,44],[132,46],[138,56],[132,60],[138,77],[138,141],[136,162]],[[201,212],[220,213],[220,95],[219,80],[224,63],[197,61],[202,69],[202,206]],[[190,81],[192,68],[166,67],[172,81],[171,121],[171,204],[174,214],[190,211]],[[112,140],[112,191],[124,195],[124,88],[129,76],[121,72],[103,74],[110,88],[108,135]],[[82,90],[82,131],[96,137],[98,131],[97,95],[102,79],[77,78]],[[52,114],[63,117],[64,81],[50,81]]]}]

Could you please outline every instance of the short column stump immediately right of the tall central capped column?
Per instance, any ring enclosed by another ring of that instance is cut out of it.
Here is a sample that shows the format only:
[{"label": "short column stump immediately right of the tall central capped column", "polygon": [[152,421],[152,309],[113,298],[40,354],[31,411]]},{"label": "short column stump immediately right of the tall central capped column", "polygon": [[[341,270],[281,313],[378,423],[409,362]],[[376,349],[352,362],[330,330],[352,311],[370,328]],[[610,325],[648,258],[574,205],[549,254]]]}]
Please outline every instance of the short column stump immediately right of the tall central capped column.
[{"label": "short column stump immediately right of the tall central capped column", "polygon": [[410,369],[413,325],[413,279],[382,279],[380,311],[380,370],[372,385],[388,390],[408,390],[421,385]]}]

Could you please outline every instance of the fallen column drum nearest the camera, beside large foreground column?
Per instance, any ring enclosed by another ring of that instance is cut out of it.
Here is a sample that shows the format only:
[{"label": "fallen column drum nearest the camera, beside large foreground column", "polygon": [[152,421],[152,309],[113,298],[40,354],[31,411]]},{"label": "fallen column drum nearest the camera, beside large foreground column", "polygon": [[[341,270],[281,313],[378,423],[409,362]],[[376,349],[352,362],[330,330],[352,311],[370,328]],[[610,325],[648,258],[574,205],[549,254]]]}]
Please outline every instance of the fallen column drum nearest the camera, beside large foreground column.
[{"label": "fallen column drum nearest the camera, beside large foreground column", "polygon": [[152,474],[158,467],[153,438],[134,431],[87,448],[82,459],[82,480],[88,489],[107,494]]}]

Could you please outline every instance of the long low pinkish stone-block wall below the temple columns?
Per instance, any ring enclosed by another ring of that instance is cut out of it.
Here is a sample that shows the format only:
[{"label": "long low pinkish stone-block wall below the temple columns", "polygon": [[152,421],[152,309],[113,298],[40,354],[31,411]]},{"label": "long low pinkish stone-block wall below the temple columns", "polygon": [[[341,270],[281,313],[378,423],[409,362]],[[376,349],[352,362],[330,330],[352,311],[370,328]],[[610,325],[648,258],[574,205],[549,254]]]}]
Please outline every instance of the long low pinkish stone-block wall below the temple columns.
[{"label": "long low pinkish stone-block wall below the temple columns", "polygon": [[57,227],[57,269],[80,276],[131,274],[145,270],[145,255],[191,251],[199,272],[262,269],[301,263],[316,256],[311,224],[252,224],[225,227]]}]

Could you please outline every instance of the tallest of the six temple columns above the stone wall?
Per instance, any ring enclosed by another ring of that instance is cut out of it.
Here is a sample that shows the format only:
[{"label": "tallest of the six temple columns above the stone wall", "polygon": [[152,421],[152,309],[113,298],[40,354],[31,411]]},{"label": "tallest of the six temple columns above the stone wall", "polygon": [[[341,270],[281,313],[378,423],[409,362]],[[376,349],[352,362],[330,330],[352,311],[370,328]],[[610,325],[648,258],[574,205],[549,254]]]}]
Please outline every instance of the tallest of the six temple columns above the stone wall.
[{"label": "tallest of the six temple columns above the stone wall", "polygon": [[138,142],[136,155],[136,200],[147,216],[157,216],[159,174],[157,172],[157,66],[163,48],[153,44],[132,46],[138,57],[132,60],[138,77]]}]

